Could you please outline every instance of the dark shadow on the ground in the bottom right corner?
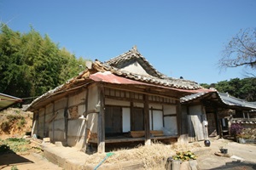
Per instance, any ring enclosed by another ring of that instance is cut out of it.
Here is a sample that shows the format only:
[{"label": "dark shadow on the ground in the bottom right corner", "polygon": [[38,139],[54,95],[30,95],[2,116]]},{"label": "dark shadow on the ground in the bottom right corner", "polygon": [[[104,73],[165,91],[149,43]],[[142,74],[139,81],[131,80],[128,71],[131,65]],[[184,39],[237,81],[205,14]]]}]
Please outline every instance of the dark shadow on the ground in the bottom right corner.
[{"label": "dark shadow on the ground in the bottom right corner", "polygon": [[221,166],[221,167],[216,167],[212,168],[213,170],[217,169],[224,169],[224,170],[241,170],[241,169],[246,169],[246,170],[253,170],[256,169],[256,163],[249,162],[249,161],[231,161],[227,162],[226,165]]}]

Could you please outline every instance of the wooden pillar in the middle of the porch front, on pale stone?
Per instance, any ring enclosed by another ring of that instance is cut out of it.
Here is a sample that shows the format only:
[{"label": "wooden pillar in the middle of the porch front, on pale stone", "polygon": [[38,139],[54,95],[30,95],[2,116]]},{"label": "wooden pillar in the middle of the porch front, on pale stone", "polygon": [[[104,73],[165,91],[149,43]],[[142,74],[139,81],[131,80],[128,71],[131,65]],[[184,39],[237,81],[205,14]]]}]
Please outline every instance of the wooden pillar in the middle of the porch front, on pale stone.
[{"label": "wooden pillar in the middle of the porch front, on pale stone", "polygon": [[150,123],[149,123],[149,106],[148,95],[144,94],[144,128],[145,128],[145,145],[151,144],[150,140]]}]

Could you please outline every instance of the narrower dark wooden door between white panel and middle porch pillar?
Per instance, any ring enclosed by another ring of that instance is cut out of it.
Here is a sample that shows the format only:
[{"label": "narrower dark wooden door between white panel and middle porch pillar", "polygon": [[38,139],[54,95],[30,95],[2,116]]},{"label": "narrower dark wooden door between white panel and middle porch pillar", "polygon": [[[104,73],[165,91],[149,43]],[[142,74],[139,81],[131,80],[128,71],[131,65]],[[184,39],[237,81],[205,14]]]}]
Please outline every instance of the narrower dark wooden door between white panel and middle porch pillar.
[{"label": "narrower dark wooden door between white panel and middle porch pillar", "polygon": [[133,108],[131,112],[131,131],[144,130],[143,108]]}]

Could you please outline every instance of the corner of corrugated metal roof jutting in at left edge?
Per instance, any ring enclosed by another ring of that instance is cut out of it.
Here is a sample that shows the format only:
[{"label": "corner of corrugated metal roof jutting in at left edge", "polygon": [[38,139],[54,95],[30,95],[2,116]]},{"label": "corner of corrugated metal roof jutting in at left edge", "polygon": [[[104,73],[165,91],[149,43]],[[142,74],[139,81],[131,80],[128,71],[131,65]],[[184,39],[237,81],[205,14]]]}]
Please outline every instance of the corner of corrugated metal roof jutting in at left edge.
[{"label": "corner of corrugated metal roof jutting in at left edge", "polygon": [[20,102],[22,102],[22,99],[20,98],[0,93],[0,111],[3,111],[4,109],[7,109],[9,106]]}]

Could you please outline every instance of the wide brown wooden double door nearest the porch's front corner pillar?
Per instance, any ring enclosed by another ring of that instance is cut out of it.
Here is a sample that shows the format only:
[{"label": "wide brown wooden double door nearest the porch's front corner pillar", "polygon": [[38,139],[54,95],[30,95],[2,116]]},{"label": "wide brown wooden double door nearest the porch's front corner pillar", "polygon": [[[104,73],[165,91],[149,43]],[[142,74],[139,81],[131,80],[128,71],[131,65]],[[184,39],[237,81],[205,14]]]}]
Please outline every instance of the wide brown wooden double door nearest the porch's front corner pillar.
[{"label": "wide brown wooden double door nearest the porch's front corner pillar", "polygon": [[119,106],[106,106],[105,133],[113,136],[122,133],[122,108]]}]

